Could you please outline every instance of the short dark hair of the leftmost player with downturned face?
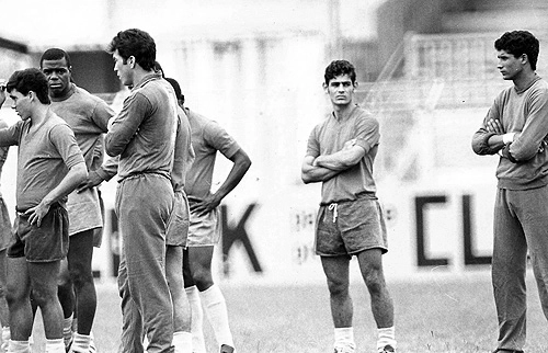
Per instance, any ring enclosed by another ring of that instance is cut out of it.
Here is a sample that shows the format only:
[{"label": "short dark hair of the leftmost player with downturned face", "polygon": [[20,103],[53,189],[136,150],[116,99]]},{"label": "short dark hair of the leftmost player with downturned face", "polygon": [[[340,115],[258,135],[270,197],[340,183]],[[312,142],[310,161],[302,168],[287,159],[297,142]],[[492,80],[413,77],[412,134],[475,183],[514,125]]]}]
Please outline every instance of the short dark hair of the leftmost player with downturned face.
[{"label": "short dark hair of the leftmost player with downturned face", "polygon": [[42,104],[49,104],[47,78],[41,70],[36,68],[30,68],[24,70],[19,70],[12,73],[8,83],[5,84],[5,90],[11,92],[12,90],[18,90],[21,94],[28,94],[30,91],[36,93],[36,96]]}]

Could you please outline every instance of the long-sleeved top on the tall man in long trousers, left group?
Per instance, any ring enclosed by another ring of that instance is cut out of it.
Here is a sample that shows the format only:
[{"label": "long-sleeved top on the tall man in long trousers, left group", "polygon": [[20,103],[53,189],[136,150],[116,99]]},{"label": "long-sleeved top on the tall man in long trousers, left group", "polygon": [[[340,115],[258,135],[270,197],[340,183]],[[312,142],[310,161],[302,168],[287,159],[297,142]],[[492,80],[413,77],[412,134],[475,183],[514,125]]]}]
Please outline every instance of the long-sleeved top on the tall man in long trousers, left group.
[{"label": "long-sleeved top on the tall man in long trousers, left group", "polygon": [[119,156],[118,181],[139,173],[170,178],[178,123],[171,84],[147,75],[133,89],[104,138],[109,156]]}]

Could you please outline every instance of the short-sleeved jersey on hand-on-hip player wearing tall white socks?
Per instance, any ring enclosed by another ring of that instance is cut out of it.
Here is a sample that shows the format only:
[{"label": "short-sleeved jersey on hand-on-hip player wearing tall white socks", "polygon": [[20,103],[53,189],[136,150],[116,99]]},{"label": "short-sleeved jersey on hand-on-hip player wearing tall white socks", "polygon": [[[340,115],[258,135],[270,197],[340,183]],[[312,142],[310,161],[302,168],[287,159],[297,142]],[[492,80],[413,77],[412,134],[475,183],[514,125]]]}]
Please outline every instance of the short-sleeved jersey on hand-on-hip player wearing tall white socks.
[{"label": "short-sleeved jersey on hand-on-hip player wearing tall white socks", "polygon": [[186,174],[189,198],[204,200],[212,194],[212,180],[217,151],[232,158],[240,149],[238,143],[215,121],[185,109],[191,123],[192,147],[196,155]]}]

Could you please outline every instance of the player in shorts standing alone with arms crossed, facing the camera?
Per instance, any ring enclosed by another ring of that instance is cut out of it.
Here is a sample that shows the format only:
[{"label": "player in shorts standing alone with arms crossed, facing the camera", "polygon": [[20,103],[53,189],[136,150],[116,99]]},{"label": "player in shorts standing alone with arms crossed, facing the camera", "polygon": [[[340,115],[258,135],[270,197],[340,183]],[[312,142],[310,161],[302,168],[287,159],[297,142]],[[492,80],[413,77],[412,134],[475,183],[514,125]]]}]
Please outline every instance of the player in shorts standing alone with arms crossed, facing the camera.
[{"label": "player in shorts standing alone with arms crossed, facing the camera", "polygon": [[388,251],[386,227],[373,179],[379,124],[353,102],[357,82],[352,64],[332,61],[324,79],[333,112],[310,133],[301,176],[305,183],[322,183],[315,250],[321,258],[331,296],[334,352],[352,353],[356,349],[349,295],[349,265],[354,255],[370,294],[377,350],[395,352],[393,304],[381,260]]}]

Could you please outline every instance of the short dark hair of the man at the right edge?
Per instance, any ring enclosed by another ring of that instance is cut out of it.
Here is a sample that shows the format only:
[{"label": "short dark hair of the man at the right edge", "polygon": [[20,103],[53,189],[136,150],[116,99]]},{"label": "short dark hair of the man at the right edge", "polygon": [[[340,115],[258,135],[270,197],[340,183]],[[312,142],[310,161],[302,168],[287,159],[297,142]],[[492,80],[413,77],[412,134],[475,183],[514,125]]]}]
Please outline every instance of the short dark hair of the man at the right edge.
[{"label": "short dark hair of the man at the right edge", "polygon": [[512,31],[504,33],[499,39],[494,41],[496,50],[504,50],[512,54],[515,58],[527,55],[530,68],[537,69],[537,59],[539,44],[538,39],[528,31]]}]

